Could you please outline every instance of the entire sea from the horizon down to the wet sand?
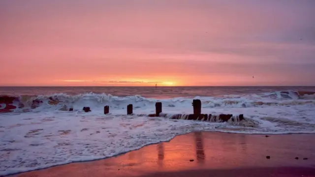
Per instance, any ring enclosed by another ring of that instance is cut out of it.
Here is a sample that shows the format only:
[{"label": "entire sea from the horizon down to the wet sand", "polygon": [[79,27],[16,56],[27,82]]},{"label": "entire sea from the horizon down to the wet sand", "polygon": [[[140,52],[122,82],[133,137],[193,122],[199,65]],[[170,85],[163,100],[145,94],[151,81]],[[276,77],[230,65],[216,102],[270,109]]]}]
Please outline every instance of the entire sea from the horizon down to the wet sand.
[{"label": "entire sea from the horizon down to the wet sand", "polygon": [[[1,87],[0,176],[111,157],[192,131],[315,133],[314,91],[315,87]],[[204,114],[244,114],[245,120],[169,119],[192,114],[193,99],[201,100]],[[155,113],[156,102],[162,102],[166,118],[147,117]],[[133,104],[132,116],[126,115],[128,104]],[[105,105],[110,107],[108,115],[103,114]],[[92,111],[85,113],[83,107]]]}]

